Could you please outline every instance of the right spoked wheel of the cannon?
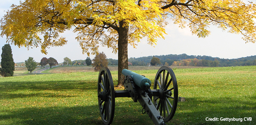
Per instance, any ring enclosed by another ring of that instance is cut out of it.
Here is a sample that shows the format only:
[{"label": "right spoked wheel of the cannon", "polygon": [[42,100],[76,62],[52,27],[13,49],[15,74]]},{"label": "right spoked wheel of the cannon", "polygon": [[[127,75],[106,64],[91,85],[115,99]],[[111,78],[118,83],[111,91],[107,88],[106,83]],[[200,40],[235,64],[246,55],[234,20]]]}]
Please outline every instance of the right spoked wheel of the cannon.
[{"label": "right spoked wheel of the cannon", "polygon": [[178,102],[178,86],[173,70],[170,67],[161,67],[155,77],[154,87],[159,96],[153,96],[156,109],[165,122],[172,119]]}]

